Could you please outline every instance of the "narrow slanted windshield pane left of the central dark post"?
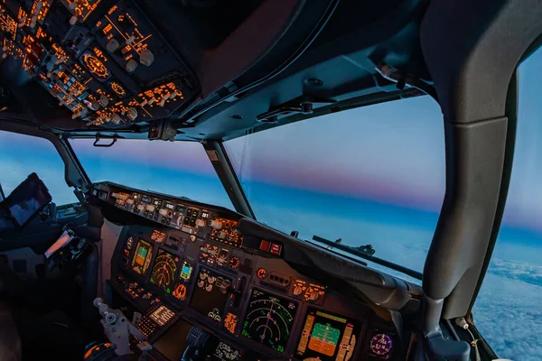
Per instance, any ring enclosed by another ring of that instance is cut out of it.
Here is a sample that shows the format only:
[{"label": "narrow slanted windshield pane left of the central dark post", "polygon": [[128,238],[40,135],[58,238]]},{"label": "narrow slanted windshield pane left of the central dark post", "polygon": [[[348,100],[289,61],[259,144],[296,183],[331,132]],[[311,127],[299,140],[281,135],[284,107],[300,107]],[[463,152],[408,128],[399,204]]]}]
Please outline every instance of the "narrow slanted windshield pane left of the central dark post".
[{"label": "narrow slanted windshield pane left of the central dark post", "polygon": [[233,209],[200,143],[127,139],[111,147],[92,143],[94,139],[70,141],[93,182],[109,180]]}]

